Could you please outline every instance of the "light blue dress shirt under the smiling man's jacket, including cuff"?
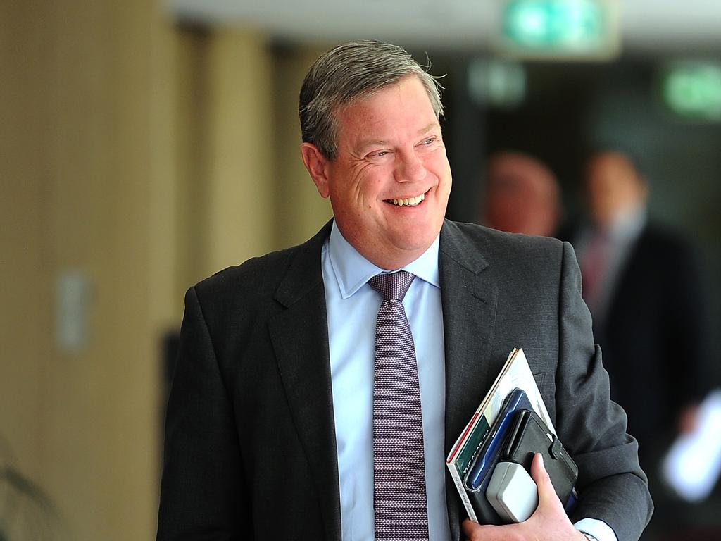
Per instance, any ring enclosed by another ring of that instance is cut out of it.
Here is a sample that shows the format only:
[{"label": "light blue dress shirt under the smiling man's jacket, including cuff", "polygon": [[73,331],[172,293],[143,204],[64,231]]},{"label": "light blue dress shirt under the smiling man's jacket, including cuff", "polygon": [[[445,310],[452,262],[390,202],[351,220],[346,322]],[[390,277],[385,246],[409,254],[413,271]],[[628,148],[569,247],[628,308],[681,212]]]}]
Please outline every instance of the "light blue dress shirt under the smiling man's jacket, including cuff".
[{"label": "light blue dress shirt under the smiling man's jacket, including cuff", "polygon": [[[423,408],[423,445],[430,541],[450,541],[443,452],[446,366],[443,340],[438,241],[404,271],[416,278],[403,299],[415,343]],[[373,350],[381,296],[368,279],[386,272],[363,258],[335,221],[322,250],[328,317],[335,438],[338,449],[340,519],[343,541],[373,541]],[[400,269],[398,269],[400,270]],[[479,397],[481,400],[482,397]],[[596,519],[575,526],[599,541],[617,541],[613,529]]]}]

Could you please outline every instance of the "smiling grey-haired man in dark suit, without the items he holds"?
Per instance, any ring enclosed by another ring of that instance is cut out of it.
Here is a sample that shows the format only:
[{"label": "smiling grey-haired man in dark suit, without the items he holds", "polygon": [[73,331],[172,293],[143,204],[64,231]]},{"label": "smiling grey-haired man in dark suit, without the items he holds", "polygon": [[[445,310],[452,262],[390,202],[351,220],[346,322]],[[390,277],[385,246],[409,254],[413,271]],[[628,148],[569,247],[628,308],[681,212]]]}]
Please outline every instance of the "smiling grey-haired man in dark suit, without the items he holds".
[{"label": "smiling grey-haired man in dark suit, without the items he holds", "polygon": [[[402,48],[329,50],[299,109],[334,219],[187,292],[158,539],[637,539],[645,475],[570,245],[444,219],[438,84]],[[579,501],[566,516],[536,457],[531,518],[475,524],[445,456],[516,346]]]}]

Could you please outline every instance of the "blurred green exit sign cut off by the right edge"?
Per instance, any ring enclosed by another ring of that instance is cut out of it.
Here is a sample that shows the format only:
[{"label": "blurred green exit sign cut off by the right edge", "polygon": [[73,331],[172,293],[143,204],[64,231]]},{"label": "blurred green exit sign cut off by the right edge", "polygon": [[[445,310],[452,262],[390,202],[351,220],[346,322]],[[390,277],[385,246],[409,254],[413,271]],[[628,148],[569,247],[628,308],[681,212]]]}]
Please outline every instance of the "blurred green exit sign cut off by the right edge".
[{"label": "blurred green exit sign cut off by the right edge", "polygon": [[721,120],[721,63],[674,62],[660,80],[665,105],[691,120]]}]

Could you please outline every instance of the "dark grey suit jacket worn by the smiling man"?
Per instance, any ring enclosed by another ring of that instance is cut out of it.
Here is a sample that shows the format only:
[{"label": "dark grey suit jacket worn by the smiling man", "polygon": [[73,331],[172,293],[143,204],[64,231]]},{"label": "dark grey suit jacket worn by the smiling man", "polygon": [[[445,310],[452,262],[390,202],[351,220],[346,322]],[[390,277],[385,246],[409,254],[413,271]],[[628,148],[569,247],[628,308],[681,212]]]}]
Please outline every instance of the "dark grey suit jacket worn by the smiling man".
[{"label": "dark grey suit jacket worn by the smiling man", "polygon": [[[168,405],[158,540],[340,541],[340,491],[321,248],[229,268],[185,298]],[[522,347],[579,467],[572,519],[635,540],[652,505],[637,444],[609,400],[572,248],[446,221],[439,252],[446,452]],[[454,540],[464,519],[446,479]]]}]

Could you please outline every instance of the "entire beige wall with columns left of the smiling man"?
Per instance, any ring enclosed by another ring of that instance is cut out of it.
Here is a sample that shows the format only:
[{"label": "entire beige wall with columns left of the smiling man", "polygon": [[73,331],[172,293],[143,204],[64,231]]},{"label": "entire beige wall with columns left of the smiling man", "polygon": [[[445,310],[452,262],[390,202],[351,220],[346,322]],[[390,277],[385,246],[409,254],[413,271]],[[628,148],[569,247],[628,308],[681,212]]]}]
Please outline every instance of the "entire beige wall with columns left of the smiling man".
[{"label": "entire beige wall with columns left of the smiling man", "polygon": [[[329,217],[298,159],[312,53],[158,10],[0,4],[0,438],[74,540],[154,537],[183,291]],[[77,350],[55,335],[67,271],[89,284]]]}]

